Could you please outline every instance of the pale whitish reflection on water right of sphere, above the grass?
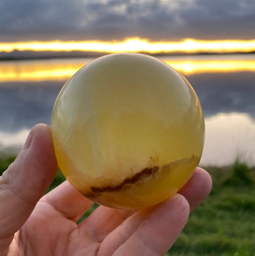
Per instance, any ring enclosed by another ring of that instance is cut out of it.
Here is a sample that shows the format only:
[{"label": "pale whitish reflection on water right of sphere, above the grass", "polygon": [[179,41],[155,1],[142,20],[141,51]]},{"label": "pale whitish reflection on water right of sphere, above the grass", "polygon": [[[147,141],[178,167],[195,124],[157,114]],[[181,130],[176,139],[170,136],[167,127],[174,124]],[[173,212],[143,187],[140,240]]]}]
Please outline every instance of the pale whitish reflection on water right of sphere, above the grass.
[{"label": "pale whitish reflection on water right of sphere, above the grass", "polygon": [[246,113],[218,113],[205,119],[201,165],[232,164],[236,157],[255,166],[255,121]]}]

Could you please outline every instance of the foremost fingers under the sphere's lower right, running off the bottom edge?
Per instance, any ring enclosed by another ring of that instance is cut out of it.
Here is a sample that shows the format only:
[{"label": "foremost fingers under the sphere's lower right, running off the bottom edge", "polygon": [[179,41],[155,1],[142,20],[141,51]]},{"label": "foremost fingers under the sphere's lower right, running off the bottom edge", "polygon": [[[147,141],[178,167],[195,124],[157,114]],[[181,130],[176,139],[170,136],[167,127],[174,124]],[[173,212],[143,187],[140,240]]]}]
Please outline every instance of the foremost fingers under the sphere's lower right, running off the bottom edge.
[{"label": "foremost fingers under the sphere's lower right, running off the bottom edge", "polygon": [[103,240],[98,255],[164,255],[181,233],[189,212],[180,194],[140,210]]}]

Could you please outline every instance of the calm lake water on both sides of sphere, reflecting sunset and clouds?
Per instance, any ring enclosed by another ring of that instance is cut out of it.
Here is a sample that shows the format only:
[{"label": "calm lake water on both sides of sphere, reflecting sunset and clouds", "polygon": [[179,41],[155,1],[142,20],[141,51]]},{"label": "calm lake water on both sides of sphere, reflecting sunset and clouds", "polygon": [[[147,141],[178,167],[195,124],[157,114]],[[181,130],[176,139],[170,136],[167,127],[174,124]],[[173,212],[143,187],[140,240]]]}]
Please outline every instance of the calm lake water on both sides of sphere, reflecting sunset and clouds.
[{"label": "calm lake water on both sides of sphere, reflecting sunset and clouds", "polygon": [[[196,91],[205,116],[200,165],[237,156],[255,165],[255,54],[159,57]],[[0,153],[16,153],[36,123],[50,124],[65,82],[91,59],[0,61]]]}]

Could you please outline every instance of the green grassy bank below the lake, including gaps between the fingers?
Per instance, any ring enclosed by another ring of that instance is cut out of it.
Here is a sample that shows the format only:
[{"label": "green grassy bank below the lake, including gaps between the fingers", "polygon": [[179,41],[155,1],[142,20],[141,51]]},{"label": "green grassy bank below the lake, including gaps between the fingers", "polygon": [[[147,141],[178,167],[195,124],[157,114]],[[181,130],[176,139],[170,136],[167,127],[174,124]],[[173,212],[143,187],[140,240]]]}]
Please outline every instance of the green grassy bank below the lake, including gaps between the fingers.
[{"label": "green grassy bank below the lake, including gaps between the fingers", "polygon": [[[0,174],[13,160],[0,159]],[[213,178],[213,190],[191,213],[167,255],[255,256],[255,168],[237,160],[233,166],[206,169]],[[49,190],[63,180],[58,172]]]}]

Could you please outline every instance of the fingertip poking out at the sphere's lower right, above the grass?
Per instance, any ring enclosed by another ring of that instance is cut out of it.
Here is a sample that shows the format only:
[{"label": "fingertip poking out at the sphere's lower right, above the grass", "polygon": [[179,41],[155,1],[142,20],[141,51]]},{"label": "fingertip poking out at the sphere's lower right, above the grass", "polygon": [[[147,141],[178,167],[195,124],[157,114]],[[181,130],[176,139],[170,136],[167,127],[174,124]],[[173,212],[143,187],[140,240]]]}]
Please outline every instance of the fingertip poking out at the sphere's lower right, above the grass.
[{"label": "fingertip poking out at the sphere's lower right, above the grass", "polygon": [[178,193],[183,195],[193,211],[208,196],[212,189],[212,179],[208,172],[197,167],[190,180]]}]

